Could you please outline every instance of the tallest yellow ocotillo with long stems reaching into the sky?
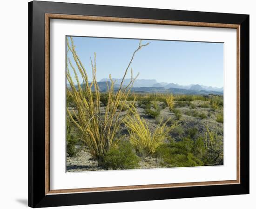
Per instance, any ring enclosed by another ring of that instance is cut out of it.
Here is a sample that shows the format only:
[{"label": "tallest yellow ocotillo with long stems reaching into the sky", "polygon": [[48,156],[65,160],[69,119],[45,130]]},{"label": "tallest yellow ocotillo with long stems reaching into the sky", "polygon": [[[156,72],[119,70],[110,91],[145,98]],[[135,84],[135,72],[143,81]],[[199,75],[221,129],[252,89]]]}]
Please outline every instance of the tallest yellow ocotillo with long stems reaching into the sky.
[{"label": "tallest yellow ocotillo with long stems reaching into the sky", "polygon": [[[148,44],[141,45],[140,41],[138,48],[133,53],[124,72],[120,88],[117,92],[114,92],[114,82],[111,75],[109,75],[111,85],[108,86],[108,102],[106,103],[105,110],[102,111],[100,108],[101,92],[96,81],[96,54],[94,53],[94,61],[91,60],[93,81],[89,83],[87,71],[75,51],[74,41],[72,37],[70,37],[70,39],[67,38],[66,67],[67,81],[70,84],[70,88],[67,88],[67,96],[72,98],[76,109],[76,111],[67,109],[67,114],[80,131],[81,141],[88,146],[90,154],[99,162],[102,161],[102,157],[108,150],[115,146],[117,141],[116,135],[120,125],[123,120],[128,117],[130,111],[127,111],[126,114],[120,113],[126,104],[136,78],[133,78],[132,70],[130,83],[127,86],[122,86],[122,84],[134,59],[135,53],[138,52],[141,47],[147,45]],[[72,61],[68,56],[69,52],[71,52]],[[70,68],[74,71],[76,85],[70,74]],[[82,83],[79,81],[77,70],[81,75]],[[134,104],[135,100],[132,105]]]}]

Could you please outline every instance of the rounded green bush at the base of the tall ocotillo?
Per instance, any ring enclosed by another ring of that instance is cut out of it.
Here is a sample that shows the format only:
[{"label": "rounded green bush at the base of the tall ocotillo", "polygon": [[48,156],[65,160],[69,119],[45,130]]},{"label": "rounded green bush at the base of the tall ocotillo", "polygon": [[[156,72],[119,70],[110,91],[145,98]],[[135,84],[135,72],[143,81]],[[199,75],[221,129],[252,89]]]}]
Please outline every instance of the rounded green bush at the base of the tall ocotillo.
[{"label": "rounded green bush at the base of the tall ocotillo", "polygon": [[139,167],[140,158],[133,152],[128,142],[123,142],[111,148],[103,157],[101,166],[105,169],[135,169]]}]

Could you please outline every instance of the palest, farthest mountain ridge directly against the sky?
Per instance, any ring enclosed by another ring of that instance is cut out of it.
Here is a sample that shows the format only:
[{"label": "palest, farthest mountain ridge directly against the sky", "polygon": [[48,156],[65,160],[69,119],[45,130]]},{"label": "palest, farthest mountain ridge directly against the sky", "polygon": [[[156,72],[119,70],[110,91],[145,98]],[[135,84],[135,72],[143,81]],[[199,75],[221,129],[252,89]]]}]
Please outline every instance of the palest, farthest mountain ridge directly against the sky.
[{"label": "palest, farthest mountain ridge directly against the sky", "polygon": [[[116,85],[120,85],[121,78],[113,78]],[[131,79],[127,78],[124,79],[123,85],[128,85]],[[100,82],[110,81],[108,78],[103,78]],[[166,83],[161,82],[158,83],[155,79],[136,79],[133,85],[134,88],[140,87],[163,87],[164,89],[169,88],[176,88],[176,89],[186,89],[186,90],[193,90],[193,91],[218,91],[223,93],[223,87],[212,87],[212,86],[205,86],[199,84],[191,84],[191,85],[178,85],[174,83]]]}]

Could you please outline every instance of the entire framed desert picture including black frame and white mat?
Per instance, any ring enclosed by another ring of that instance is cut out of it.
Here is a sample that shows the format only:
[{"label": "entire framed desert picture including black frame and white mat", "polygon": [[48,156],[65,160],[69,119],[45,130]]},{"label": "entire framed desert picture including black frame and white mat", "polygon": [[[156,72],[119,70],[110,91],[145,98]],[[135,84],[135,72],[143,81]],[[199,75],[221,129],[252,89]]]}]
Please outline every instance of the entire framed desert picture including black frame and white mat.
[{"label": "entire framed desert picture including black frame and white mat", "polygon": [[249,194],[249,15],[28,3],[28,205]]}]

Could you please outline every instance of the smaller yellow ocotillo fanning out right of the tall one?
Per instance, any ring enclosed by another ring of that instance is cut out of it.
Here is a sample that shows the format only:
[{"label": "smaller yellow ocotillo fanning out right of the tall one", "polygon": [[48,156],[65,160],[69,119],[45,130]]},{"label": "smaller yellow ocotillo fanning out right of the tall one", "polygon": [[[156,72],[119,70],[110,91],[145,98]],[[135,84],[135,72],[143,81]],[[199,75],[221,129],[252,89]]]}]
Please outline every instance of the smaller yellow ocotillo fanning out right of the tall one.
[{"label": "smaller yellow ocotillo fanning out right of the tall one", "polygon": [[146,121],[139,116],[136,109],[133,109],[133,112],[134,116],[128,117],[125,121],[130,134],[129,140],[138,152],[144,152],[146,155],[153,154],[175,125],[167,126],[169,118],[165,123],[158,124],[155,131],[150,131]]}]

